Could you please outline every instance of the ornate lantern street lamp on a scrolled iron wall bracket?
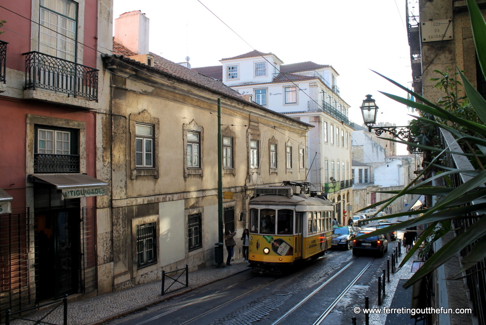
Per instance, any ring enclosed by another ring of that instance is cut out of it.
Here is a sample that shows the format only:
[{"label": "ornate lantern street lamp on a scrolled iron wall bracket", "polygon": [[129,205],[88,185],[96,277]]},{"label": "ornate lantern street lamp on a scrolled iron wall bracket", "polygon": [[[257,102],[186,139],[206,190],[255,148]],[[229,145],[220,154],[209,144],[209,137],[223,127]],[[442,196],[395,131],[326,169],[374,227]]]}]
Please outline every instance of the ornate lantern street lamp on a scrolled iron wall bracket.
[{"label": "ornate lantern street lamp on a scrolled iron wall bracket", "polygon": [[409,141],[414,138],[410,133],[410,126],[376,126],[376,117],[378,114],[378,106],[376,106],[375,100],[371,98],[371,95],[366,95],[363,104],[360,106],[361,113],[363,114],[364,125],[368,126],[368,131],[375,130],[376,135],[380,136],[383,132],[388,132],[393,135],[394,138],[399,138],[402,141]]}]

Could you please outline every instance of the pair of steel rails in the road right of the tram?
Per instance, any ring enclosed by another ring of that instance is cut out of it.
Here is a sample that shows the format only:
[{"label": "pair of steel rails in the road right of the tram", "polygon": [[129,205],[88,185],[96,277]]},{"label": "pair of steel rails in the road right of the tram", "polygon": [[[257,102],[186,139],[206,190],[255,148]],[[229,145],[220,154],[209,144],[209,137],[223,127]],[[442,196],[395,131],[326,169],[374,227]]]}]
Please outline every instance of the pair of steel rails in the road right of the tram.
[{"label": "pair of steel rails in the road right of the tram", "polygon": [[[344,266],[341,270],[336,272],[334,275],[332,275],[329,279],[326,280],[326,282],[322,283],[319,287],[314,289],[309,295],[307,295],[304,299],[299,301],[297,304],[294,305],[291,309],[289,309],[285,314],[280,316],[274,323],[271,325],[277,325],[280,322],[282,322],[284,319],[286,319],[289,315],[291,315],[293,312],[295,312],[299,307],[303,306],[309,299],[312,298],[315,294],[319,293],[321,289],[323,289],[325,286],[327,286],[330,282],[332,282],[339,274],[342,272],[346,271],[355,261],[357,260],[354,259],[351,262],[349,262],[346,266]],[[312,325],[319,325],[321,324],[324,319],[330,314],[332,309],[336,307],[336,305],[339,303],[339,301],[346,295],[346,293],[356,284],[356,282],[360,279],[360,277],[368,270],[368,268],[373,264],[375,261],[375,258],[373,258],[369,263],[358,273],[358,275],[349,283],[349,285],[341,291],[341,293],[337,296],[337,298],[330,304],[330,306],[319,316],[319,318],[312,324]]]}]

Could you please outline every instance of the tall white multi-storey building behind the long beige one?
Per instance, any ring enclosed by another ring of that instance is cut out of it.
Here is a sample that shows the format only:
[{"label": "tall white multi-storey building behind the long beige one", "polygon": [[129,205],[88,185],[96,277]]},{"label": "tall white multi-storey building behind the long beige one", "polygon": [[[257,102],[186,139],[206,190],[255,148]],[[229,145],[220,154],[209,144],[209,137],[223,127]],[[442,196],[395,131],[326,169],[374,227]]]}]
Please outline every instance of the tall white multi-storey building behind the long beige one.
[{"label": "tall white multi-storey building behind the long beige one", "polygon": [[[352,210],[350,132],[353,123],[347,116],[349,105],[339,95],[339,74],[330,65],[311,61],[283,64],[277,55],[259,51],[220,62],[222,66],[192,70],[222,80],[265,108],[315,126],[309,131],[307,143],[308,181],[315,185],[316,191],[327,193],[328,199],[336,203],[336,218],[344,224],[343,210]],[[301,145],[299,150],[306,146]]]}]

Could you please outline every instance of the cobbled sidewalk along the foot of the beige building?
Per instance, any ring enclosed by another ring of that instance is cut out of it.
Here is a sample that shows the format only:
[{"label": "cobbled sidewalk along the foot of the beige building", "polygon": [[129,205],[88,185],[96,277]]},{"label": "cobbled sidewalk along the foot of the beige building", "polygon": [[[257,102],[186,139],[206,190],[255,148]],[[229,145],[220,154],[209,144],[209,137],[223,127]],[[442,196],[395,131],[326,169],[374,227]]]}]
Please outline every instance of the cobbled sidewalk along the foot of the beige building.
[{"label": "cobbled sidewalk along the foot of the beige building", "polygon": [[[189,272],[189,287],[182,285],[178,287],[171,287],[171,289],[178,289],[176,291],[165,293],[161,295],[161,280],[138,285],[133,288],[124,289],[117,292],[110,292],[104,295],[86,298],[83,300],[68,303],[68,324],[69,325],[96,325],[102,324],[108,320],[127,315],[134,311],[143,309],[145,307],[160,303],[164,300],[170,299],[174,296],[184,294],[191,290],[205,286],[209,283],[224,279],[233,274],[250,270],[248,263],[245,263],[243,258],[231,261],[231,266],[223,267],[208,267],[198,271]],[[170,274],[174,277],[173,274]],[[185,282],[185,275],[179,279]],[[166,279],[165,287],[170,285]],[[180,288],[180,289],[179,289]],[[27,318],[39,319],[46,315],[50,309],[36,312],[34,315],[29,315]],[[44,322],[52,324],[63,323],[62,306],[57,308],[54,312],[49,314]],[[14,320],[10,324],[13,325],[30,325],[32,322],[24,320]]]}]

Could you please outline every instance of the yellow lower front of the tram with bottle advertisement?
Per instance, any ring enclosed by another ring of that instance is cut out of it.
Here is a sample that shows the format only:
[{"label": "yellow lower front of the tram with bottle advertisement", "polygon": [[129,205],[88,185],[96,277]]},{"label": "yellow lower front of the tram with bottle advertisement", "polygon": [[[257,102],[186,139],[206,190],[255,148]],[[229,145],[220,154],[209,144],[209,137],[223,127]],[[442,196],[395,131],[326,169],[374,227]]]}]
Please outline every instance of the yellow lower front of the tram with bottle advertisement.
[{"label": "yellow lower front of the tram with bottle advertisement", "polygon": [[294,236],[250,234],[249,259],[261,262],[293,262],[294,241]]}]

